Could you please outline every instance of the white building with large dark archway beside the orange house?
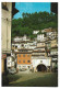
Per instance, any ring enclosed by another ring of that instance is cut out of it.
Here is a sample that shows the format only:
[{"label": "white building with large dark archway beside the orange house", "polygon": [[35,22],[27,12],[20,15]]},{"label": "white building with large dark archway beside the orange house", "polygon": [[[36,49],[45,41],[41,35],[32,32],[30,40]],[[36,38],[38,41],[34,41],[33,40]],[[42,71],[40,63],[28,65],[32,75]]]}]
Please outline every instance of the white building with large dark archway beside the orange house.
[{"label": "white building with large dark archway beside the orange house", "polygon": [[51,57],[32,56],[32,67],[34,71],[51,70]]}]

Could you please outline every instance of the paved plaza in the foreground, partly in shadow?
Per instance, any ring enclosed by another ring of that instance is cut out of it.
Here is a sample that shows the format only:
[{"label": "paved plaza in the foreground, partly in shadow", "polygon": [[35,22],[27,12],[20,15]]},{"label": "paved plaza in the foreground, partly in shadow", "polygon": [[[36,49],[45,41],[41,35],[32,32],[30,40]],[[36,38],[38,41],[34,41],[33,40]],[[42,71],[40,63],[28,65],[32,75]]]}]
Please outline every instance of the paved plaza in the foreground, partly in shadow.
[{"label": "paved plaza in the foreground, partly in shadow", "polygon": [[56,73],[23,73],[8,75],[10,87],[57,87]]}]

